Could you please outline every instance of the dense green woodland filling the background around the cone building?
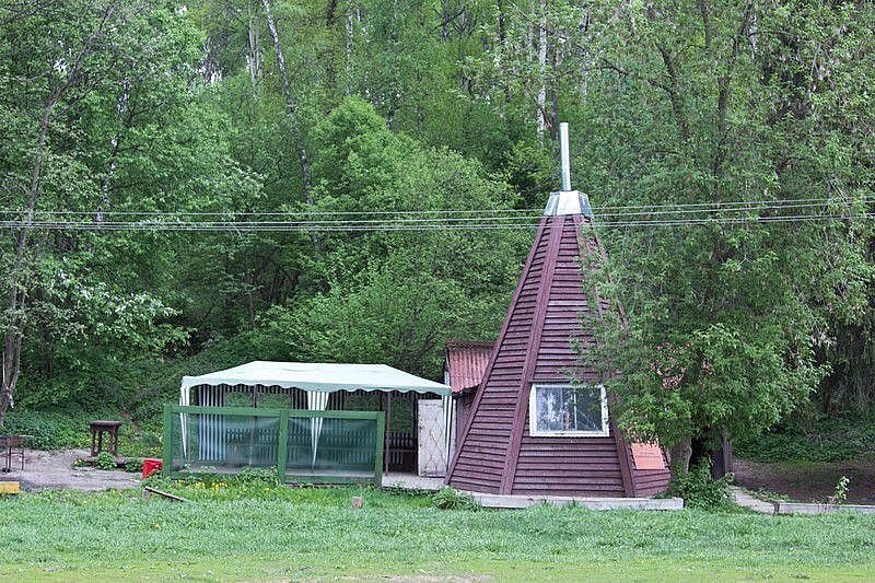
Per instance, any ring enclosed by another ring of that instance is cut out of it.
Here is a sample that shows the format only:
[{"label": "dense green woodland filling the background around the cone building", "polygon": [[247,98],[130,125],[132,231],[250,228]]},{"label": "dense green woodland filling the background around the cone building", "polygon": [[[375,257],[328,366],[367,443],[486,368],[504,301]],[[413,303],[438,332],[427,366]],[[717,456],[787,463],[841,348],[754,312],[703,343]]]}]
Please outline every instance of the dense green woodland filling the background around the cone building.
[{"label": "dense green woodland filling the background around the cone building", "polygon": [[622,373],[630,429],[684,445],[871,410],[873,24],[862,1],[0,2],[2,212],[95,225],[2,230],[0,420],[13,399],[133,411],[254,358],[435,377],[447,337],[498,333],[530,231],[101,226],[538,208],[560,120],[603,222],[829,201],[599,228],[592,289],[625,325],[593,323],[583,358]]}]

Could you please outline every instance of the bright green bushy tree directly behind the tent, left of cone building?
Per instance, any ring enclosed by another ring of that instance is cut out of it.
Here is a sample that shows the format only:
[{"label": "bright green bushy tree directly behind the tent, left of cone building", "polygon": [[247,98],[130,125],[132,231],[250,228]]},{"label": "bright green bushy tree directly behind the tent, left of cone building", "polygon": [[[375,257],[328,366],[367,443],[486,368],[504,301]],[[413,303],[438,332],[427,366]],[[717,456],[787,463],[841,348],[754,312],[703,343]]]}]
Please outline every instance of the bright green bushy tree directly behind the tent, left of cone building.
[{"label": "bright green bushy tree directly behind the tent, left of cone building", "polygon": [[[480,164],[389,131],[348,98],[316,128],[314,209],[355,212],[500,208],[508,185]],[[530,234],[413,231],[320,235],[306,269],[322,280],[269,311],[267,334],[303,360],[386,362],[440,372],[452,336],[497,334]]]}]

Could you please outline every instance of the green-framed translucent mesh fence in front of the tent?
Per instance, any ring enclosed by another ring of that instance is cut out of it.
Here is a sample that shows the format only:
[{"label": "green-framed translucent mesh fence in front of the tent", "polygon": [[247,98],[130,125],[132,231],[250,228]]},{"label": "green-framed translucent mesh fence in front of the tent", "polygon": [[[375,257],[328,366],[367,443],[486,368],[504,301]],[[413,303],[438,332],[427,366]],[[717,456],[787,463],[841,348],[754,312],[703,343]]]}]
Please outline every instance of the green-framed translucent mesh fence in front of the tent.
[{"label": "green-framed translucent mesh fence in front of the tent", "polygon": [[281,479],[345,482],[382,478],[382,411],[248,407],[164,408],[165,475],[276,468]]}]

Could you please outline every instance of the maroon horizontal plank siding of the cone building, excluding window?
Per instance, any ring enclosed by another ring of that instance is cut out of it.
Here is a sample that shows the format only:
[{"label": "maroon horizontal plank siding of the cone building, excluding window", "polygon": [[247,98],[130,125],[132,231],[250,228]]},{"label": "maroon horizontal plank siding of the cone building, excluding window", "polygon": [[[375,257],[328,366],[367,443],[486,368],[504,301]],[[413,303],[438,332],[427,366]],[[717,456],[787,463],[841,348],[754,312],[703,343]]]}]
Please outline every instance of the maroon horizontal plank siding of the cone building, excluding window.
[{"label": "maroon horizontal plank siding of the cone building, excluding window", "polygon": [[652,495],[667,486],[661,471],[639,471],[611,423],[606,438],[532,436],[528,397],[533,383],[564,383],[581,369],[572,340],[594,342],[580,315],[608,303],[583,292],[579,258],[598,263],[604,252],[580,228],[582,215],[545,217],[492,350],[447,483],[489,493],[530,495]]}]

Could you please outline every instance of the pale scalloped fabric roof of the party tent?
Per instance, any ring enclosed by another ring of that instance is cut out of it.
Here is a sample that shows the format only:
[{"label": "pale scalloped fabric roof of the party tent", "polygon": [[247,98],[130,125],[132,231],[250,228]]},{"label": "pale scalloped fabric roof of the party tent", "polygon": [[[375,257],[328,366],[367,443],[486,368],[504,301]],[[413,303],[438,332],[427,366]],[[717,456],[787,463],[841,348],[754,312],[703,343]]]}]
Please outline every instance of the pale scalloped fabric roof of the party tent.
[{"label": "pale scalloped fabric roof of the party tent", "polygon": [[246,385],[279,386],[332,393],[336,390],[399,390],[401,393],[451,394],[441,383],[393,369],[386,364],[337,364],[325,362],[254,361],[233,369],[183,376],[180,404],[190,403],[189,390],[196,386]]}]

